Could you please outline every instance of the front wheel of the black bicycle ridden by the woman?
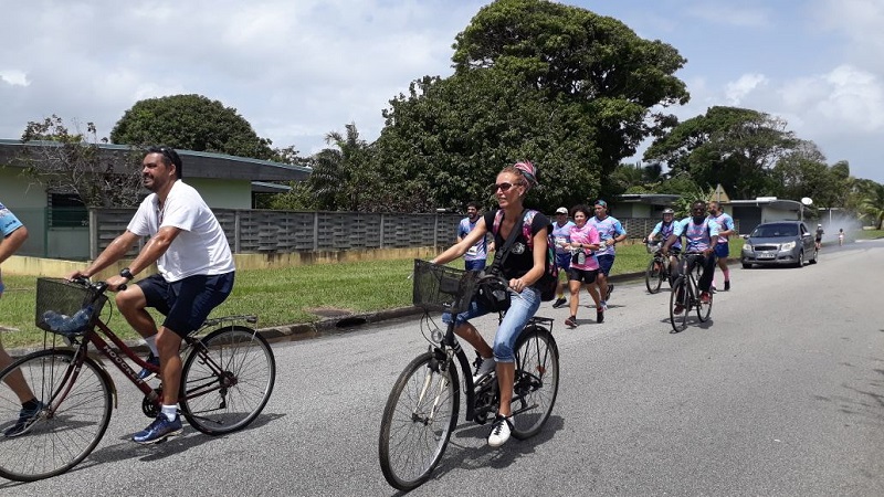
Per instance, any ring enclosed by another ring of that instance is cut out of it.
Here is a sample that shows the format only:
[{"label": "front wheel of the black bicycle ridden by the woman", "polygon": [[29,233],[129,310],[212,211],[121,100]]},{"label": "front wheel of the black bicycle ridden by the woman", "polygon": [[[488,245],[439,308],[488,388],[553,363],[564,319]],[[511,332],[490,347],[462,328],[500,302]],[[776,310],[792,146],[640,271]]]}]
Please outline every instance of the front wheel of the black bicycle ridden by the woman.
[{"label": "front wheel of the black bicycle ridden by the woman", "polygon": [[457,370],[431,352],[411,361],[387,399],[378,440],[380,469],[393,488],[427,482],[457,424]]}]

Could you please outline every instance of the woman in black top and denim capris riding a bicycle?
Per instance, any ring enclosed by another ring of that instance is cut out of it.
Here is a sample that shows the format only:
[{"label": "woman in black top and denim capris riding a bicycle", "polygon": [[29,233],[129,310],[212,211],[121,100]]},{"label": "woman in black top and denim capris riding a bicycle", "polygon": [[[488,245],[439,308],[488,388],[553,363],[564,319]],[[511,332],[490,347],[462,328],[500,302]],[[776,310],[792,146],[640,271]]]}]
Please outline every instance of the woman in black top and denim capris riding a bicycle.
[{"label": "woman in black top and denim capris riding a bicycle", "polygon": [[[497,232],[494,233],[494,246],[504,246],[519,216],[524,216],[527,212],[523,207],[525,194],[536,184],[537,170],[528,161],[507,166],[497,175],[497,181],[492,186],[492,190],[499,204],[499,210],[503,211],[503,219],[499,221]],[[459,243],[436,256],[432,262],[444,264],[466,253],[471,246],[485,236],[485,233],[494,231],[493,225],[496,213],[496,211],[486,212],[478,220],[473,231]],[[512,411],[509,409],[509,403],[513,400],[513,382],[516,371],[516,358],[513,348],[519,331],[540,307],[540,290],[533,285],[544,274],[548,230],[549,220],[539,212],[535,213],[528,231],[532,240],[525,237],[525,229],[519,230],[520,233],[516,235],[515,242],[509,247],[509,254],[503,267],[499,267],[499,273],[505,279],[509,281],[512,304],[501,326],[497,328],[493,347],[485,341],[478,330],[470,322],[470,319],[488,314],[488,310],[474,302],[470,309],[455,317],[456,326],[454,332],[472,345],[483,358],[476,368],[473,380],[478,381],[493,370],[497,372],[501,406],[488,435],[488,445],[493,447],[498,447],[509,440],[509,432],[513,429]],[[451,319],[452,316],[450,314],[442,316],[442,320],[445,322],[451,322]]]}]

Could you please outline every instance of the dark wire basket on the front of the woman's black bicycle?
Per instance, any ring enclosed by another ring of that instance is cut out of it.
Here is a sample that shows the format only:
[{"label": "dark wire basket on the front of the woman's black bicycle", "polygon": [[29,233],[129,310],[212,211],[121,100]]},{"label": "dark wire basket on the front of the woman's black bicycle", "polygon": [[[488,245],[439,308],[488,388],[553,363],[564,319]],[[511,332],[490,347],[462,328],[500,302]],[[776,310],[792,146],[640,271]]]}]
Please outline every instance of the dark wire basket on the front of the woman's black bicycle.
[{"label": "dark wire basket on the front of the woman's black bicycle", "polygon": [[477,273],[414,260],[412,303],[425,310],[459,314],[470,308]]}]

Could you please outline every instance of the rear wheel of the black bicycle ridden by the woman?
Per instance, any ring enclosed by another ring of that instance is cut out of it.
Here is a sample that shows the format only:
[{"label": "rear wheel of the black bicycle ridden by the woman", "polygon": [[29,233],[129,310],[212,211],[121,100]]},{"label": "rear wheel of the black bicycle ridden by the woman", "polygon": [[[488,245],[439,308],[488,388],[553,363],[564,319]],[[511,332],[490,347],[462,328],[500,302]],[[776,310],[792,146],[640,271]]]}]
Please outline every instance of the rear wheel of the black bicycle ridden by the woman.
[{"label": "rear wheel of the black bicycle ridden by the woman", "polygon": [[559,391],[559,349],[546,328],[522,331],[516,341],[513,390],[513,436],[525,440],[540,432]]}]

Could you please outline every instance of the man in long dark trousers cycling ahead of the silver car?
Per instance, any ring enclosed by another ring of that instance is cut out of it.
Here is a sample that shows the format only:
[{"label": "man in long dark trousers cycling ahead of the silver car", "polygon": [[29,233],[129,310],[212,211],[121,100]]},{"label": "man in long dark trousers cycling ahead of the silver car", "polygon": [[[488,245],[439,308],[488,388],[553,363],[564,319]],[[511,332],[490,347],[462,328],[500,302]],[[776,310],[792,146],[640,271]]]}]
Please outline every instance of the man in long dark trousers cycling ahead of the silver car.
[{"label": "man in long dark trousers cycling ahead of the silver car", "polygon": [[[703,266],[703,274],[699,276],[697,286],[699,287],[699,299],[704,304],[709,302],[709,287],[712,277],[715,274],[715,245],[718,243],[718,224],[706,215],[706,202],[697,200],[691,205],[691,216],[683,219],[663,244],[663,255],[667,255],[672,245],[684,236],[685,254],[703,254],[699,264]],[[676,266],[677,274],[684,275],[694,268],[694,260],[685,260],[683,264]],[[682,286],[684,292],[684,286]],[[675,314],[681,314],[684,307],[681,305],[682,296],[677,296],[678,303],[675,305]]]}]

